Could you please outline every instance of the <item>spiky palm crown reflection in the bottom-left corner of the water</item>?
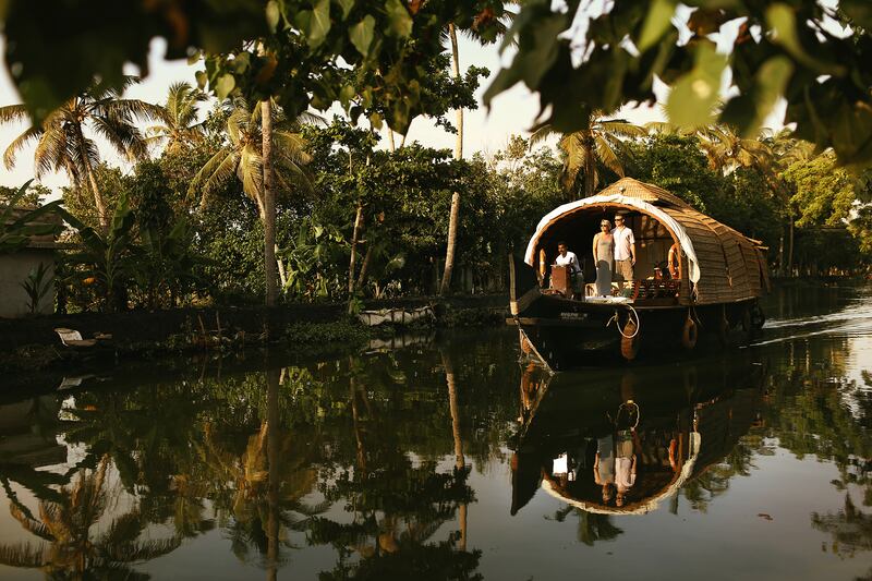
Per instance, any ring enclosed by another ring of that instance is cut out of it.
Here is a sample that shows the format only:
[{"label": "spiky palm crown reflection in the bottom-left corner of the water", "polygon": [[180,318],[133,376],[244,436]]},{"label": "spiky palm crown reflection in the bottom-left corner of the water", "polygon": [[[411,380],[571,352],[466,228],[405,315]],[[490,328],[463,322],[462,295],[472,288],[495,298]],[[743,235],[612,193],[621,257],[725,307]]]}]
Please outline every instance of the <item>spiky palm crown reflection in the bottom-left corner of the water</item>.
[{"label": "spiky palm crown reflection in the bottom-left corner of the water", "polygon": [[166,555],[179,546],[180,540],[138,542],[145,521],[137,509],[116,518],[102,534],[92,537],[90,529],[107,507],[104,489],[107,464],[108,458],[104,457],[95,471],[80,472],[72,486],[61,488],[58,501],[41,500],[38,519],[12,505],[12,516],[48,546],[45,543],[2,546],[0,562],[39,568],[49,578],[147,578],[130,565]]}]

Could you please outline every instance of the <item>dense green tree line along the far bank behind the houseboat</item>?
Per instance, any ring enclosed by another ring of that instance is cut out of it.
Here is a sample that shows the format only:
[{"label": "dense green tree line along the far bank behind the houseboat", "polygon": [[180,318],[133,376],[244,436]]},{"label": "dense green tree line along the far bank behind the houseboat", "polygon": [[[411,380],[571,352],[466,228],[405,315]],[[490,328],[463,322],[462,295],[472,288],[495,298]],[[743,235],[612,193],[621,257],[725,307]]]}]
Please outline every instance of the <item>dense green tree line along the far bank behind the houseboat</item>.
[{"label": "dense green tree line along the far bank behind the houseboat", "polygon": [[[85,141],[74,149],[94,155],[88,179],[76,179],[71,160],[73,180],[62,192],[77,229],[66,235],[77,246],[60,269],[61,306],[258,302],[267,290],[263,109],[240,97],[208,106],[184,84],[171,87],[161,107],[111,98],[149,111],[152,125],[131,119],[120,131],[130,143],[150,142],[152,155],[134,156],[140,160],[125,172],[100,162],[93,138],[76,130]],[[865,174],[840,169],[829,152],[814,155],[789,132],[744,140],[728,128],[640,128],[598,116],[556,148],[542,144],[546,129],[461,159],[416,143],[386,149],[379,133],[342,117],[288,119],[277,104],[270,111],[272,247],[284,301],[350,300],[353,307],[360,299],[437,293],[458,192],[450,289],[505,290],[506,256],[523,250],[541,216],[622,175],[673,191],[760,240],[783,275],[840,275],[868,264]],[[13,142],[8,154],[17,147]],[[63,167],[45,152],[37,148],[38,168]],[[47,193],[37,185],[26,195],[35,202]]]}]

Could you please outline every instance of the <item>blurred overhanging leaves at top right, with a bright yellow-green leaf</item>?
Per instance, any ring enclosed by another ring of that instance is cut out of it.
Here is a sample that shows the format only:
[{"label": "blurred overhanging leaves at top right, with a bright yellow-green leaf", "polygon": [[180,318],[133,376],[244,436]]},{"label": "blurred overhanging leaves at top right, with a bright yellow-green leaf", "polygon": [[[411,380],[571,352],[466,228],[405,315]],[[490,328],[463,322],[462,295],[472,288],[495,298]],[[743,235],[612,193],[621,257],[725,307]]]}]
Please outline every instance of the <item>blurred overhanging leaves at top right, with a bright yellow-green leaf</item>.
[{"label": "blurred overhanging leaves at top right, with a bright yellow-green leaf", "polygon": [[[833,147],[841,164],[872,164],[868,0],[841,0],[838,9],[815,0],[615,0],[583,34],[561,34],[573,25],[579,0],[566,10],[553,4],[521,5],[506,38],[518,52],[485,104],[524,83],[540,93],[541,122],[570,133],[585,129],[593,110],[653,102],[658,76],[671,86],[666,109],[674,123],[702,126],[717,118],[752,136],[784,96],[785,122],[797,123],[797,136]],[[729,51],[718,52],[713,35],[737,25]],[[731,90],[722,108],[727,70]]]}]

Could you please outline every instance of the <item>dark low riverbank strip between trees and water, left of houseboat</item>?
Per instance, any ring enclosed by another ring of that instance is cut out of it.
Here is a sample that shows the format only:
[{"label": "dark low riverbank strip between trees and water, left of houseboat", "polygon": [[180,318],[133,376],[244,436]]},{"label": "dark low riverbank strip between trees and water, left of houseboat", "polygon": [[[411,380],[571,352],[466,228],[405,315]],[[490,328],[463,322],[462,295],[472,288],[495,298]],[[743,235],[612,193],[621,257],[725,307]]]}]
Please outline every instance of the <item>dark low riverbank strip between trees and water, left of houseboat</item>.
[{"label": "dark low riverbank strip between trees and water, left of houseboat", "polygon": [[[432,305],[434,319],[413,330],[502,325],[508,299],[501,294],[440,300],[374,301],[366,310],[413,310]],[[83,338],[111,336],[92,347],[64,347],[56,328]],[[230,353],[280,346],[305,354],[355,351],[389,344],[405,326],[367,327],[347,314],[346,304],[292,304],[276,307],[180,308],[126,313],[81,313],[0,319],[0,372],[27,374],[75,370],[118,360],[148,360],[181,353]]]}]

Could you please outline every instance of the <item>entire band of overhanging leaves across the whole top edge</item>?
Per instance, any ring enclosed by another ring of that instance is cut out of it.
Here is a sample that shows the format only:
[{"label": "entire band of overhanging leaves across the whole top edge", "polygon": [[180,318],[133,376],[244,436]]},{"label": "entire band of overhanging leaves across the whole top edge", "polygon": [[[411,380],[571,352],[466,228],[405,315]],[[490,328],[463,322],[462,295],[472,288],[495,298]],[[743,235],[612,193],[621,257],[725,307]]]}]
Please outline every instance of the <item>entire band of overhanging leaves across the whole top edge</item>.
[{"label": "entire band of overhanging leaves across the whole top edge", "polygon": [[[592,111],[652,102],[657,76],[673,87],[674,122],[717,118],[751,136],[783,96],[798,137],[833,147],[843,165],[872,164],[868,0],[615,0],[586,27],[580,4],[521,3],[502,45],[517,52],[486,104],[523,83],[540,94],[541,123],[572,133]],[[162,37],[167,58],[205,51],[198,82],[220,98],[274,96],[289,117],[338,101],[401,133],[428,113],[427,62],[443,52],[448,23],[494,41],[505,15],[494,0],[71,0],[50,11],[0,2],[7,66],[37,122],[94,76],[120,83],[124,62],[147,74],[148,45]],[[715,49],[717,33],[731,38],[728,51]]]}]

